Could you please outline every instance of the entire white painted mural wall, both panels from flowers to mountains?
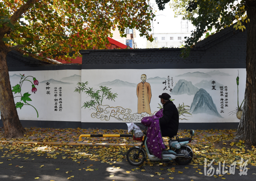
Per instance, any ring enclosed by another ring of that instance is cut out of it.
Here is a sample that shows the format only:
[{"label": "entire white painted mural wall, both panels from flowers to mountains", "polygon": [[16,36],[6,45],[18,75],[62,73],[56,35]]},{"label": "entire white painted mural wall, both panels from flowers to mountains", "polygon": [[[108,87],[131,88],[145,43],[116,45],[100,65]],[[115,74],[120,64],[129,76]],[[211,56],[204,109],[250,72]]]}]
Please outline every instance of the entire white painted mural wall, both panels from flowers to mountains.
[{"label": "entire white painted mural wall, both panels from flowers to mountains", "polygon": [[246,80],[245,69],[45,70],[9,75],[21,120],[82,122],[140,122],[161,108],[162,93],[171,95],[180,122],[239,122]]}]

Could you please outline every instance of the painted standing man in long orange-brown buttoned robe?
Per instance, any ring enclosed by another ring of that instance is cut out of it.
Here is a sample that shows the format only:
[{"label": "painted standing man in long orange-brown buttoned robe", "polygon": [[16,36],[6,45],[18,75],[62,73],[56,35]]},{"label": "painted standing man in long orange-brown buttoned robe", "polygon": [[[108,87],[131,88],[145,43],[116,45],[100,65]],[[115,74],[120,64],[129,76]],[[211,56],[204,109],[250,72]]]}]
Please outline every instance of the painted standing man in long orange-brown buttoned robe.
[{"label": "painted standing man in long orange-brown buttoned robe", "polygon": [[141,75],[141,83],[137,85],[137,97],[138,97],[138,113],[148,113],[150,111],[150,100],[151,100],[151,87],[150,84],[146,82],[147,76],[145,74]]}]

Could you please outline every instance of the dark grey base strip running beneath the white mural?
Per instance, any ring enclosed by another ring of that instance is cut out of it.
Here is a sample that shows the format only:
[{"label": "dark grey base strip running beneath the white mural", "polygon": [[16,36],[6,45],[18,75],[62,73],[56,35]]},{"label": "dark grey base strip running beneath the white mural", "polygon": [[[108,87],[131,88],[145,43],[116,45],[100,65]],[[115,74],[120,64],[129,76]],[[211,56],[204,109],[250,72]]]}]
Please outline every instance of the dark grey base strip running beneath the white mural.
[{"label": "dark grey base strip running beneath the white mural", "polygon": [[[20,120],[24,128],[82,128],[82,129],[124,129],[127,130],[126,122],[79,122],[79,121],[36,121]],[[201,122],[201,123],[184,123],[180,122],[179,129],[237,129],[239,122]],[[3,127],[0,121],[0,127]]]}]

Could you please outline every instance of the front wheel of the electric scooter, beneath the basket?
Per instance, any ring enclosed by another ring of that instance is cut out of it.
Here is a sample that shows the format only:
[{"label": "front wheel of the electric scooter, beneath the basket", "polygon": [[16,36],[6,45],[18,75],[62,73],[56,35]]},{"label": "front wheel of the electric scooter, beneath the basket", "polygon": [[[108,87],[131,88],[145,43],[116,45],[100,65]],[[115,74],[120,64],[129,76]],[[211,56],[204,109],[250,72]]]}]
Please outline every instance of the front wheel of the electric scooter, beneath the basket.
[{"label": "front wheel of the electric scooter, beneath the basket", "polygon": [[129,164],[133,165],[133,166],[140,166],[142,163],[144,163],[145,161],[145,153],[144,151],[140,151],[140,148],[137,147],[132,147],[128,150],[128,152],[126,153],[126,159],[129,162]]}]

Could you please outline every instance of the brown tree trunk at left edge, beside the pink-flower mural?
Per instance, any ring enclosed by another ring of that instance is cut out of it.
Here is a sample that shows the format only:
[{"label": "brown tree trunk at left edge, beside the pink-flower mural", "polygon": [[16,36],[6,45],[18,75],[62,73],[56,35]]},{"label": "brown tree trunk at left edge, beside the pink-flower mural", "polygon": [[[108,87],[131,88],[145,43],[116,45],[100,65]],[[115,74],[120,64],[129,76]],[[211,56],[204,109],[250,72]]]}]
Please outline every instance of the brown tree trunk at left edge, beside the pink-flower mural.
[{"label": "brown tree trunk at left edge, beside the pink-flower mural", "polygon": [[26,131],[19,121],[15,107],[9,71],[6,62],[7,47],[0,40],[0,110],[4,126],[4,137],[13,138],[23,136]]}]

